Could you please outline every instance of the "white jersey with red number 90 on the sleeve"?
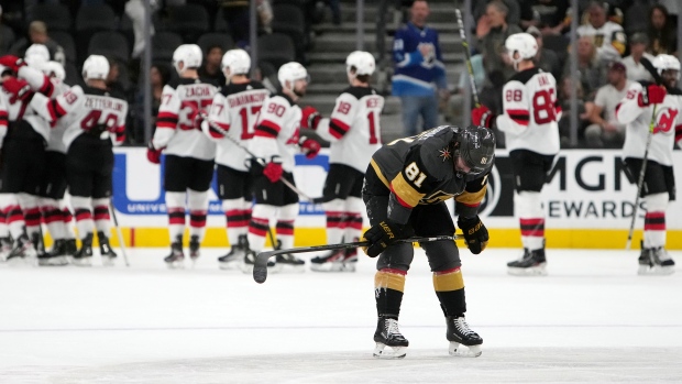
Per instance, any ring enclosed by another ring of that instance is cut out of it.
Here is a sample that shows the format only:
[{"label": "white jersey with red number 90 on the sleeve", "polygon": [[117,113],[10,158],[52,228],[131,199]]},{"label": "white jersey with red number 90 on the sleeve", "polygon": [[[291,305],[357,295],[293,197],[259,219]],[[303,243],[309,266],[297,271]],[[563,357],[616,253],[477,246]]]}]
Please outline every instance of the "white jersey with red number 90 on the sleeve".
[{"label": "white jersey with red number 90 on the sleeve", "polygon": [[261,108],[255,135],[249,144],[251,152],[266,162],[278,155],[284,171],[294,172],[294,151],[298,146],[301,116],[300,107],[288,96],[268,97]]}]

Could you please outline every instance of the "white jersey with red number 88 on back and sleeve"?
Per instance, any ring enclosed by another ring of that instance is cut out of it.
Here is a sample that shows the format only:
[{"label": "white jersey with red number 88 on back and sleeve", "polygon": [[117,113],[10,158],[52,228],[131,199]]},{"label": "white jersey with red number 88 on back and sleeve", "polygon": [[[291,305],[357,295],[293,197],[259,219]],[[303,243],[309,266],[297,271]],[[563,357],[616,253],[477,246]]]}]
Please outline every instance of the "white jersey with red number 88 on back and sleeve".
[{"label": "white jersey with red number 88 on back and sleeve", "polygon": [[542,155],[559,153],[561,107],[557,103],[557,80],[539,68],[516,74],[502,91],[503,113],[497,128],[505,132],[507,149]]}]

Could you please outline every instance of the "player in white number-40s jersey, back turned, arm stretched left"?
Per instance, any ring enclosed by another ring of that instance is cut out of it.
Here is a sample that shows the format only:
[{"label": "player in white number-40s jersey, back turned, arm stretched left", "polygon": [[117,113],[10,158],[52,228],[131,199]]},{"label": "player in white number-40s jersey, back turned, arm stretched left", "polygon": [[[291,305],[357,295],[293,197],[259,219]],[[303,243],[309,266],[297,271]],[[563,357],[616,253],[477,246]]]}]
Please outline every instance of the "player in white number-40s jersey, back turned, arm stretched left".
[{"label": "player in white number-40s jersey, back turned, arm stretched left", "polygon": [[82,64],[86,86],[70,87],[55,99],[35,94],[31,107],[50,122],[65,124],[66,177],[81,246],[74,264],[92,263],[92,228],[97,230],[103,265],[113,265],[117,254],[109,245],[111,223],[113,151],[125,140],[128,101],[107,88],[109,61],[90,55]]}]

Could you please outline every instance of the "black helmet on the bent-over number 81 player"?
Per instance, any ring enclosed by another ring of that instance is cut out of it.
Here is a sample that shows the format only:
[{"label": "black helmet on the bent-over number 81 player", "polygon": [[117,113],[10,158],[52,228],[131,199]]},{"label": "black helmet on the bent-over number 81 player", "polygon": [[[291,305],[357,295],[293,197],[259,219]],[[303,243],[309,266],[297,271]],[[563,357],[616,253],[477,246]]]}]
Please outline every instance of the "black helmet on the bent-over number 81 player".
[{"label": "black helmet on the bent-over number 81 player", "polygon": [[458,132],[454,143],[454,161],[461,157],[471,168],[469,174],[482,174],[493,166],[495,160],[495,133],[483,127],[466,127]]}]

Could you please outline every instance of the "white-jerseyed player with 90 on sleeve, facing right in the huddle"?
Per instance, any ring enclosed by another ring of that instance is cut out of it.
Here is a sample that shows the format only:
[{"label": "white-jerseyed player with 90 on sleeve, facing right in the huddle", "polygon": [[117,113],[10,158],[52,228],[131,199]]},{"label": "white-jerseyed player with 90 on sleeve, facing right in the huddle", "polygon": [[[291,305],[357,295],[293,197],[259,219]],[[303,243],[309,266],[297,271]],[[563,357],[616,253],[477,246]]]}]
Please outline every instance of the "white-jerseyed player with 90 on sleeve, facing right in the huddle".
[{"label": "white-jerseyed player with 90 on sleeve, facing right in the huddle", "polygon": [[[279,68],[277,79],[282,91],[267,98],[263,105],[255,135],[250,143],[251,152],[258,158],[251,163],[255,205],[249,224],[251,250],[244,257],[245,273],[253,270],[256,253],[265,245],[266,235],[272,234],[271,218],[277,218],[277,240],[274,246],[294,246],[298,195],[287,188],[280,178],[295,183],[293,172],[296,149],[300,149],[308,157],[315,157],[320,150],[320,144],[315,140],[299,136],[302,113],[296,102],[306,94],[308,72],[302,65],[292,62]],[[293,254],[283,254],[277,255],[276,266],[274,263],[270,266],[273,271],[302,272],[305,264],[305,261]]]}]

